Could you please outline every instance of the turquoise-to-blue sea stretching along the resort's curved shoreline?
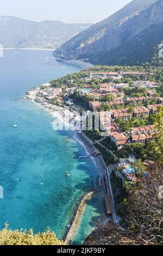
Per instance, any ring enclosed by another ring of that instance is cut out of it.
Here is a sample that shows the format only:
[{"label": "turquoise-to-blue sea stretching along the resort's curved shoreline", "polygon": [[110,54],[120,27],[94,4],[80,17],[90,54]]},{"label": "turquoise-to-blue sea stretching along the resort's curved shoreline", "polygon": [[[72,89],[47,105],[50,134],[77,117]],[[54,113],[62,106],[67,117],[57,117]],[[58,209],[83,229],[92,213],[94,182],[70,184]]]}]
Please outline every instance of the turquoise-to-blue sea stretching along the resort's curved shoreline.
[{"label": "turquoise-to-blue sea stretching along the resort's curved shoreline", "polygon": [[78,160],[85,149],[74,133],[53,131],[51,114],[17,99],[38,84],[79,70],[56,62],[51,51],[5,50],[0,58],[0,228],[5,222],[35,233],[49,227],[62,238],[78,201],[97,187],[98,170],[91,159]]}]

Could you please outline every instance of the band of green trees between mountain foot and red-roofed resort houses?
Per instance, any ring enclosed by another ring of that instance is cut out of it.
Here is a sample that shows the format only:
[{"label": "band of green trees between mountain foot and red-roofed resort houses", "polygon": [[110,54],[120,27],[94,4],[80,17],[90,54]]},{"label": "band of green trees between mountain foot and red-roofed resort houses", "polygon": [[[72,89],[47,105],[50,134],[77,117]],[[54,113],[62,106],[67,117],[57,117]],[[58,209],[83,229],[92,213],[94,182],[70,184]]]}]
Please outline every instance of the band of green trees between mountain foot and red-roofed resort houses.
[{"label": "band of green trees between mountain foot and red-roofed resort houses", "polygon": [[[89,79],[89,75],[91,72],[121,72],[121,71],[140,71],[145,72],[145,74],[141,75],[127,75],[126,77],[122,78],[121,80],[116,80],[112,77],[108,77],[105,80],[101,81],[97,78],[93,78],[92,80]],[[52,80],[50,83],[52,87],[61,87],[65,86],[66,88],[71,87],[83,87],[88,84],[92,89],[98,88],[101,83],[130,83],[132,84],[133,81],[136,80],[150,80],[159,82],[160,85],[163,83],[163,68],[162,67],[155,67],[149,63],[145,63],[142,66],[103,66],[103,65],[95,65],[82,70],[80,72],[76,72],[74,74],[68,74],[64,77],[58,78],[57,80]],[[85,80],[85,78],[87,79]],[[130,93],[145,93],[145,91],[141,92],[141,88],[137,88],[136,92]]]}]

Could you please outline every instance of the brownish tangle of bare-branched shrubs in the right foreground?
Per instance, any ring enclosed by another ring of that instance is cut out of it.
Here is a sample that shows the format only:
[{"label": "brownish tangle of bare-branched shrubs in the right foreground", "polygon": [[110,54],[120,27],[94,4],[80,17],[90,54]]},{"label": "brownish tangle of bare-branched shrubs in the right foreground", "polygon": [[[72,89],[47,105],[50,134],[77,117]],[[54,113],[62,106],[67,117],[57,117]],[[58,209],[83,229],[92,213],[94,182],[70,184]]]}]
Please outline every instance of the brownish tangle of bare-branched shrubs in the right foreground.
[{"label": "brownish tangle of bare-branched shrubs in the right foreground", "polygon": [[147,241],[163,243],[162,163],[148,168],[148,178],[141,175],[139,184],[127,199],[127,225],[130,230],[145,234]]}]

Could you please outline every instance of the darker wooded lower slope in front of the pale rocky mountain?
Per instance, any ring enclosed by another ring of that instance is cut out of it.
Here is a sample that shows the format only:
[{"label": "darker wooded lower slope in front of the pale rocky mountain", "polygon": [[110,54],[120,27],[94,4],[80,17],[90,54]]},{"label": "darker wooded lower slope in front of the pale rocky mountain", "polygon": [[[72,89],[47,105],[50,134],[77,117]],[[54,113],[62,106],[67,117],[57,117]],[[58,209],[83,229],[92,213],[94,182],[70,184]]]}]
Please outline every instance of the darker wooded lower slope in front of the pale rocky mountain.
[{"label": "darker wooded lower slope in front of the pale rocky mountain", "polygon": [[163,23],[151,26],[121,47],[109,52],[103,51],[98,54],[98,60],[91,58],[90,61],[101,65],[142,65],[148,62],[154,66],[162,66],[162,59],[158,57],[162,34]]}]

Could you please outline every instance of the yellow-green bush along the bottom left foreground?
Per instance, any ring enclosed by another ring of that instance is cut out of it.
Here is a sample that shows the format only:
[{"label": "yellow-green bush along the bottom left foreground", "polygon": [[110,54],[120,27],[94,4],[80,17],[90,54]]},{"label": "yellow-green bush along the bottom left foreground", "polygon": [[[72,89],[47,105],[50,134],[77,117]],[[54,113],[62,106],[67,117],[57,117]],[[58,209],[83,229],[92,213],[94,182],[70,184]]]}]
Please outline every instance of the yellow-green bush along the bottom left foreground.
[{"label": "yellow-green bush along the bottom left foreground", "polygon": [[0,231],[0,245],[65,245],[51,230],[33,234],[33,230],[11,230],[8,224]]}]

